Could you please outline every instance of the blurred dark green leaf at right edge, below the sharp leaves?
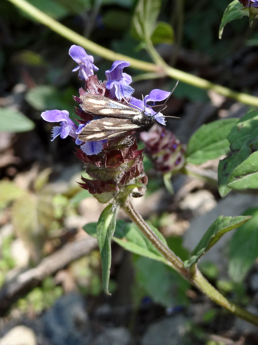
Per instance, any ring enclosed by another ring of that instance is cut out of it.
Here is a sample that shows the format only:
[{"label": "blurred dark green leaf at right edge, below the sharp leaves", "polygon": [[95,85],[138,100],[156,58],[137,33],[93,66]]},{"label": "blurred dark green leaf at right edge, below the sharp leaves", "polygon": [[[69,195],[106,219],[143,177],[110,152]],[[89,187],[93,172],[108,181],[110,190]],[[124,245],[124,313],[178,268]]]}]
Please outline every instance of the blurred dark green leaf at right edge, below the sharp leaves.
[{"label": "blurred dark green leaf at right edge, below the sharp leaves", "polygon": [[230,242],[228,273],[235,283],[241,283],[258,257],[258,209],[247,209],[252,218],[241,225]]}]

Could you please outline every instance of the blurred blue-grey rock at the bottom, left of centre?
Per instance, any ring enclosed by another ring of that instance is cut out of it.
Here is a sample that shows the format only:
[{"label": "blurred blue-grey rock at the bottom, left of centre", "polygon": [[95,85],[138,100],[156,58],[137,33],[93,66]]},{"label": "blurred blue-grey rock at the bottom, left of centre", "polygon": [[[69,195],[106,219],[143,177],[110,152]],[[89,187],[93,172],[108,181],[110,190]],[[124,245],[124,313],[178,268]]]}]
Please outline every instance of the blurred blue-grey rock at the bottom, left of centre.
[{"label": "blurred blue-grey rock at the bottom, left of centre", "polygon": [[71,293],[59,298],[44,315],[45,334],[53,345],[90,344],[88,315],[84,300]]}]

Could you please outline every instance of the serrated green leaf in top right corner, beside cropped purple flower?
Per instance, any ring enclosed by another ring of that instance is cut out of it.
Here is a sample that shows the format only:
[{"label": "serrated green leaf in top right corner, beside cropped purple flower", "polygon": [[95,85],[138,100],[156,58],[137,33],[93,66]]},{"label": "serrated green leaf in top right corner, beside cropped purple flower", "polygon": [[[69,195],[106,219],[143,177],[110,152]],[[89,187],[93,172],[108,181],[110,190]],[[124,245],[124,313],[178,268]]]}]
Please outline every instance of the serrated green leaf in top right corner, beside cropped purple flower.
[{"label": "serrated green leaf in top right corner, beside cropped purple flower", "polygon": [[238,0],[231,2],[226,8],[221,25],[219,27],[218,37],[221,39],[224,26],[234,19],[240,19],[243,16],[249,16],[249,10],[247,7],[244,7]]}]

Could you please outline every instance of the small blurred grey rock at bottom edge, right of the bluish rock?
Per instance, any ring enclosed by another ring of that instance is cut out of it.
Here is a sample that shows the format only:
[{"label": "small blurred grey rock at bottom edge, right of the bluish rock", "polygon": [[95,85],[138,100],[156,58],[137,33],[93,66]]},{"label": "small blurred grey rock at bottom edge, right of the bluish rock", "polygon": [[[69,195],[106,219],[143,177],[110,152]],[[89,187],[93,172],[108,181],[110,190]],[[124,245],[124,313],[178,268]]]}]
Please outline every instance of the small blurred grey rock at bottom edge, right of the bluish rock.
[{"label": "small blurred grey rock at bottom edge, right of the bluish rock", "polygon": [[132,338],[125,327],[107,329],[97,336],[91,345],[131,345]]}]

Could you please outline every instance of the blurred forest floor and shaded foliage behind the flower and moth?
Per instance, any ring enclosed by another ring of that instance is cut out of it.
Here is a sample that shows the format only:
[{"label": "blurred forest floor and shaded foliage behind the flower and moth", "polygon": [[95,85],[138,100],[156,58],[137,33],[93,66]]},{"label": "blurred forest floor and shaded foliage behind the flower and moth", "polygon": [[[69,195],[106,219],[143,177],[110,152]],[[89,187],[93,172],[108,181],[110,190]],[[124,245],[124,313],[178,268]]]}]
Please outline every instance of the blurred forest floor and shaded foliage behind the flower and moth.
[{"label": "blurred forest floor and shaded foliage behind the flower and moth", "polygon": [[[151,61],[131,25],[137,1],[29,2],[101,46]],[[256,20],[251,28],[248,17],[230,22],[218,39],[229,2],[163,0],[152,41],[171,66],[258,96]],[[84,87],[68,55],[74,42],[8,1],[1,1],[0,13],[0,345],[257,344],[255,326],[214,305],[168,267],[115,243],[112,295],[103,293],[97,242],[82,229],[98,220],[103,205],[78,186],[83,165],[74,155],[74,142],[69,137],[51,142],[53,126],[40,117],[52,109],[73,114],[72,96]],[[94,64],[105,80],[112,61],[94,56]],[[153,88],[172,90],[176,82],[124,71],[133,78],[137,98]],[[168,119],[166,128],[183,144],[201,125],[241,117],[249,109],[183,82],[167,105],[164,115],[180,119]],[[217,164],[208,161],[200,169],[216,179]],[[172,195],[147,156],[144,167],[147,192],[134,204],[183,260],[219,215],[236,216],[253,207],[258,217],[255,194],[221,199],[216,185],[175,174]],[[119,218],[127,220],[122,212]],[[257,314],[258,253],[241,272],[234,270],[231,236],[205,255],[200,268],[230,300]]]}]

